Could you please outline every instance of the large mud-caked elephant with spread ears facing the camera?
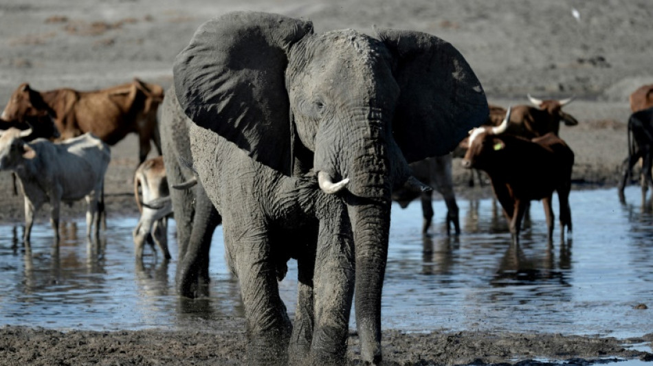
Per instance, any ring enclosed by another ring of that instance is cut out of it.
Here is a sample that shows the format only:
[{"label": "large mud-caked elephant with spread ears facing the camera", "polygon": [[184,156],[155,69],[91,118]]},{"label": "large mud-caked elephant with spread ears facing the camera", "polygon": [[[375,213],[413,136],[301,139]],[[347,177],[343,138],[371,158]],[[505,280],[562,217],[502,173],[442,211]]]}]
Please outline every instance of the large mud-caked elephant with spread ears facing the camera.
[{"label": "large mud-caked elephant with spread ears facing the camera", "polygon": [[[175,60],[192,164],[241,285],[250,362],[285,362],[288,343],[291,362],[342,361],[354,284],[362,358],[381,361],[392,189],[415,183],[407,162],[445,154],[487,118],[454,47],[377,32],[313,34],[306,21],[237,12],[202,25]],[[311,170],[329,195],[302,178]],[[289,258],[300,282],[292,328],[277,285]]]}]

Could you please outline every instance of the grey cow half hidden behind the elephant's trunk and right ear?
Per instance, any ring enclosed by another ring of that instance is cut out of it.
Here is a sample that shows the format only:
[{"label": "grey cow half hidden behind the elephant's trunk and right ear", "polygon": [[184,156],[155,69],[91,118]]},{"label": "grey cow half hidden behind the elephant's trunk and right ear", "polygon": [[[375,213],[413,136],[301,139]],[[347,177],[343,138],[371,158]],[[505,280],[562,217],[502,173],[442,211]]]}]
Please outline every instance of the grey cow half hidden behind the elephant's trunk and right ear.
[{"label": "grey cow half hidden behind the elephant's trunk and right ear", "polygon": [[[447,205],[447,235],[451,235],[451,228],[454,233],[461,233],[460,219],[458,218],[458,204],[454,193],[454,179],[452,176],[452,154],[441,157],[430,157],[424,160],[410,163],[412,175],[425,185],[430,186],[441,194]],[[428,229],[433,220],[433,191],[421,192],[410,188],[401,187],[392,191],[392,199],[397,201],[401,208],[408,207],[410,201],[419,197],[422,204],[422,233],[428,235]]]}]

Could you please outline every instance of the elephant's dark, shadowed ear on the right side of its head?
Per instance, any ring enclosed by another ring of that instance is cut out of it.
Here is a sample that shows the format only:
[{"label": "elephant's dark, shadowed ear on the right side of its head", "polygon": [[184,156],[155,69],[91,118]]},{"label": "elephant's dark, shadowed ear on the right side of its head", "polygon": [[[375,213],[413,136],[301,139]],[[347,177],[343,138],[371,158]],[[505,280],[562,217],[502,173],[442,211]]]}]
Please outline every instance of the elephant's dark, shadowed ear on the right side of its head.
[{"label": "elephant's dark, shadowed ear on the right side of its head", "polygon": [[379,30],[401,94],[392,128],[410,163],[453,150],[487,120],[485,92],[463,55],[430,34]]}]

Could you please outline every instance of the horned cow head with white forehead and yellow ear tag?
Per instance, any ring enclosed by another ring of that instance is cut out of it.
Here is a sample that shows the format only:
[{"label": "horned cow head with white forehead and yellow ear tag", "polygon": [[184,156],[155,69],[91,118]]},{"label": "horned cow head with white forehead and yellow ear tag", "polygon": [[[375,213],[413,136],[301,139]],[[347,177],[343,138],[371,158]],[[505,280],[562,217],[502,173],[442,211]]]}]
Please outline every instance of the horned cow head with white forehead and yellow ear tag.
[{"label": "horned cow head with white forehead and yellow ear tag", "polygon": [[508,107],[506,117],[499,126],[481,126],[469,131],[468,148],[462,161],[463,168],[483,169],[486,160],[495,155],[495,151],[505,148],[503,140],[496,138],[496,135],[500,135],[507,130],[510,109],[511,107]]}]

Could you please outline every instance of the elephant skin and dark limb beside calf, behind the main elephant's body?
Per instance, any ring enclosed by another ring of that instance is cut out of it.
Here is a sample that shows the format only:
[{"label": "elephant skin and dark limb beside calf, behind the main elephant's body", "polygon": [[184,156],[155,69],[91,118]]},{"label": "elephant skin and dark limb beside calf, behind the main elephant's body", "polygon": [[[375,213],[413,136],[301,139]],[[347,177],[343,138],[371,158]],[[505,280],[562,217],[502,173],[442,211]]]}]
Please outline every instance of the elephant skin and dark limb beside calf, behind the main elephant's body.
[{"label": "elephant skin and dark limb beside calf, behind the main elephant's body", "polygon": [[[190,139],[188,118],[179,111],[174,93],[164,98],[159,117],[159,134],[166,167],[168,185],[179,185],[194,177],[190,168]],[[201,184],[187,190],[170,188],[170,198],[177,225],[177,273],[179,295],[201,297],[208,295],[208,265],[211,238],[221,217],[206,196]]]}]

